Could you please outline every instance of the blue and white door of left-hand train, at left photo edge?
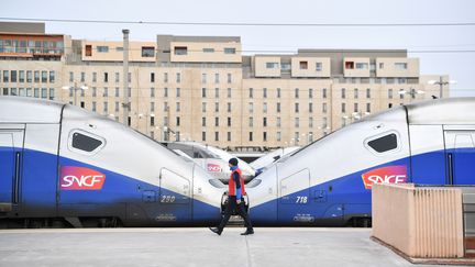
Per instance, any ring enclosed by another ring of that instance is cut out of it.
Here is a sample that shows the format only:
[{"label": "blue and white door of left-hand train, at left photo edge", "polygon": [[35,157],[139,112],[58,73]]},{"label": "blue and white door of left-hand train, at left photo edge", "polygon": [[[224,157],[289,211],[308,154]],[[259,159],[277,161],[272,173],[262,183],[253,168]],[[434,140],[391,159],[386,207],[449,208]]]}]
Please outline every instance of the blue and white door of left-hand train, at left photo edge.
[{"label": "blue and white door of left-hand train, at left photo edge", "polygon": [[20,202],[23,125],[0,125],[0,212]]}]

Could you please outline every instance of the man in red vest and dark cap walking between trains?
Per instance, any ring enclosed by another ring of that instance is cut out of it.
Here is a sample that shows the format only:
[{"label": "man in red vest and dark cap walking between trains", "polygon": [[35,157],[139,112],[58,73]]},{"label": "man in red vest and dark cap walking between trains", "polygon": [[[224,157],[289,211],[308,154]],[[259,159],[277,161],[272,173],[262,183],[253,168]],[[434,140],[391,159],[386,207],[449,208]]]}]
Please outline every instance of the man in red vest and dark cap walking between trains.
[{"label": "man in red vest and dark cap walking between trains", "polygon": [[241,169],[238,167],[238,158],[231,158],[229,160],[229,166],[231,168],[231,176],[228,183],[228,205],[224,210],[224,216],[221,220],[220,225],[217,229],[210,227],[210,230],[213,233],[221,235],[233,211],[238,211],[238,214],[244,219],[244,225],[246,226],[246,232],[242,233],[241,235],[254,234],[251,220],[244,208],[243,196],[246,194],[246,192],[244,189],[244,178],[242,177]]}]

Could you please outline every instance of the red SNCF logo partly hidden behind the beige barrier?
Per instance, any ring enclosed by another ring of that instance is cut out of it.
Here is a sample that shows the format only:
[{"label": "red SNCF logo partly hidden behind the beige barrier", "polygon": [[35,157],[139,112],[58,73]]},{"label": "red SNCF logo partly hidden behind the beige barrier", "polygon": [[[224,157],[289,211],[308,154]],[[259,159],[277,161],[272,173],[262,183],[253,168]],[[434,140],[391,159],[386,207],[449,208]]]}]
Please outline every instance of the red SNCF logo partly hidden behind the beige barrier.
[{"label": "red SNCF logo partly hidden behind the beige barrier", "polygon": [[405,165],[387,166],[372,169],[362,175],[366,189],[372,189],[373,183],[402,183],[407,182],[407,168]]}]

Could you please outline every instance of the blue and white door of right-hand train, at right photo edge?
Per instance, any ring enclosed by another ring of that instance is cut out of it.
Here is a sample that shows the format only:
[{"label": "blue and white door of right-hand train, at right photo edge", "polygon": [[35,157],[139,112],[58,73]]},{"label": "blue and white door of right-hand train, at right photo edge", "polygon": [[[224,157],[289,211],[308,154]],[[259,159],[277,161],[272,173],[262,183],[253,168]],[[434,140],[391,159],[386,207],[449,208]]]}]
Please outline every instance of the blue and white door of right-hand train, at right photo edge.
[{"label": "blue and white door of right-hand train, at right photo edge", "polygon": [[475,185],[475,129],[445,131],[448,185]]}]

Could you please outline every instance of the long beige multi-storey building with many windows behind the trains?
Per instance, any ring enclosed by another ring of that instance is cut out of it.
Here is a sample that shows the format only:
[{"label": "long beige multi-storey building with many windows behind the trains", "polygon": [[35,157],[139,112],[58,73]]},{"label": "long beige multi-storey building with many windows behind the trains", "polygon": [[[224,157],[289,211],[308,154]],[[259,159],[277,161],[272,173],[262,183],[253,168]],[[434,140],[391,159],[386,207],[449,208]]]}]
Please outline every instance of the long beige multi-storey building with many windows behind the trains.
[{"label": "long beige multi-storey building with many windows behind the trains", "polygon": [[130,42],[124,76],[122,42],[11,24],[0,23],[2,94],[69,102],[122,122],[128,93],[126,123],[157,141],[306,145],[365,115],[441,94],[428,84],[440,76],[422,76],[405,49],[243,55],[236,36],[157,35]]}]

